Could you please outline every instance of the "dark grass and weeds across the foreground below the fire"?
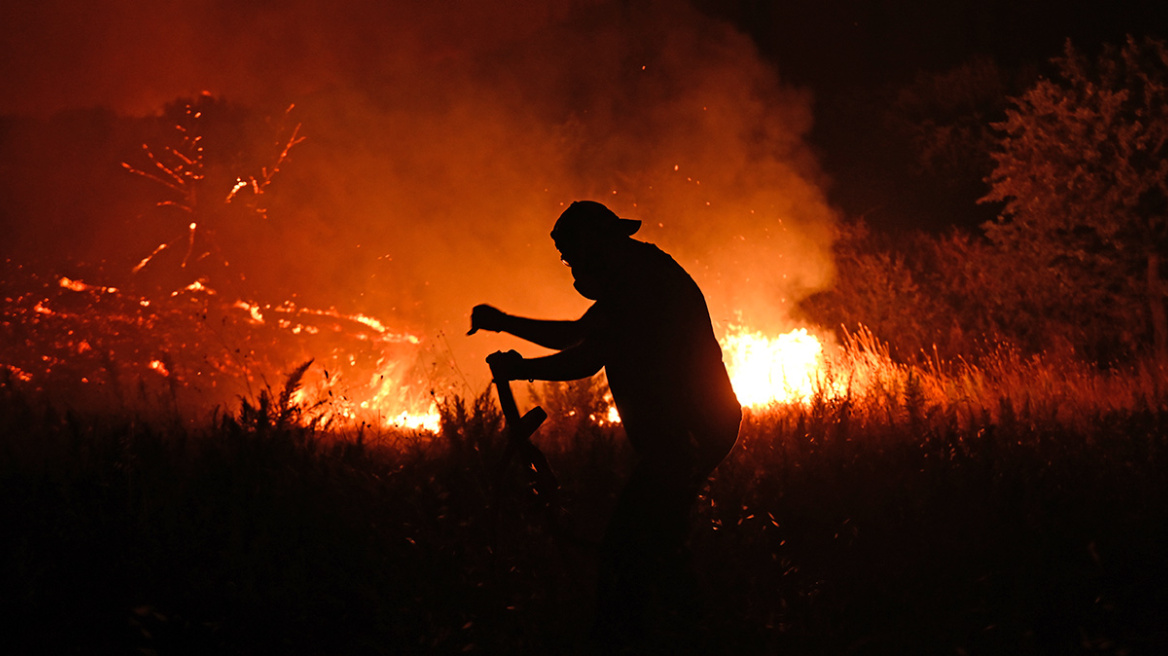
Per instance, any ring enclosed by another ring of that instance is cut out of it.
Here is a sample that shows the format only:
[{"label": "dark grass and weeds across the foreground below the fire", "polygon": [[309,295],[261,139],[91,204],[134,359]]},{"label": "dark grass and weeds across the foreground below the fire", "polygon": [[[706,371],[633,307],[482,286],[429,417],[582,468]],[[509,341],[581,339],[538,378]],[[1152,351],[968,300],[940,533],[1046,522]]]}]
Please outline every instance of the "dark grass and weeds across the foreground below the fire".
[{"label": "dark grass and weeds across the foreground below the fire", "polygon": [[[630,454],[568,391],[537,438],[596,537]],[[496,494],[489,397],[425,437],[305,427],[286,395],[192,424],[0,392],[7,652],[586,652],[593,558]],[[748,417],[669,652],[1168,649],[1168,409],[899,398]]]}]

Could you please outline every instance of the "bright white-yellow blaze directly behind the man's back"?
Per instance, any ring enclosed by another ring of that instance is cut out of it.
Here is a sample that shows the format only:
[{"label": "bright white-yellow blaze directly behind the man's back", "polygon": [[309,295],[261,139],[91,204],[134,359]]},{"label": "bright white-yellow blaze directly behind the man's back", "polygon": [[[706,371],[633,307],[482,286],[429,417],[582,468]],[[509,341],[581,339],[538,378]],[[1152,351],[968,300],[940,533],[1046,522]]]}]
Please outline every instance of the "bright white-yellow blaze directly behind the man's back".
[{"label": "bright white-yellow blaze directly behind the man's back", "polygon": [[806,403],[821,379],[822,351],[804,328],[767,337],[732,326],[722,343],[730,383],[744,406]]}]

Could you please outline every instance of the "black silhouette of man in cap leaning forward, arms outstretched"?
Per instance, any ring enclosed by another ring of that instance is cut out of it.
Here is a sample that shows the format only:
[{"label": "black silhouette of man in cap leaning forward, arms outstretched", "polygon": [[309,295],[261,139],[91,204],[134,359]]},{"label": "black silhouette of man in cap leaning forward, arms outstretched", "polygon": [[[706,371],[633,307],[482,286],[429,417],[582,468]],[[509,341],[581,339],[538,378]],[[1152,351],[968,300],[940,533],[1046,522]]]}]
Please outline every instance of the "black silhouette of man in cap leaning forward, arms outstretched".
[{"label": "black silhouette of man in cap leaning forward, arms outstretched", "polygon": [[496,376],[572,381],[605,369],[639,455],[602,543],[593,631],[616,643],[639,640],[654,588],[666,603],[696,602],[684,557],[689,511],[742,420],[701,289],[672,257],[631,237],[640,225],[592,201],[572,203],[556,221],[561,260],[576,291],[596,301],[579,319],[524,319],[486,305],[471,314],[472,333],[510,333],[558,350],[496,354]]}]

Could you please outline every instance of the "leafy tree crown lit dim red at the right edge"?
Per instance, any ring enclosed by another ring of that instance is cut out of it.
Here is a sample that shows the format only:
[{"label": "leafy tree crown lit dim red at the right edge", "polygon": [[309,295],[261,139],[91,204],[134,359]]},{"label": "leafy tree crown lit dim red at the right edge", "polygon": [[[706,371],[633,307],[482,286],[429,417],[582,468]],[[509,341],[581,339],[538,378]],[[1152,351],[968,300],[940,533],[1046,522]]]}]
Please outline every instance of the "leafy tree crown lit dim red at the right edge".
[{"label": "leafy tree crown lit dim red at the right edge", "polygon": [[1057,76],[994,124],[1001,139],[982,201],[1004,205],[986,233],[1042,279],[1034,292],[1045,312],[1100,328],[1089,337],[1097,346],[1118,337],[1136,350],[1150,328],[1163,361],[1168,48],[1128,39],[1091,61],[1068,42],[1054,62]]}]

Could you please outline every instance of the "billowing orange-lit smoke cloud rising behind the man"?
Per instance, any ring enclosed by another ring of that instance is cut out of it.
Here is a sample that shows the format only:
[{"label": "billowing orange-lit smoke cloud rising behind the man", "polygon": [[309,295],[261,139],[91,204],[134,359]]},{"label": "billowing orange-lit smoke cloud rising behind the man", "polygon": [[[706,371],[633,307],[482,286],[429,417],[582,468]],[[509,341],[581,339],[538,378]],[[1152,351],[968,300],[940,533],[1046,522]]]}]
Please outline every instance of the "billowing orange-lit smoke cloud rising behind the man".
[{"label": "billowing orange-lit smoke cloud rising behind the man", "polygon": [[464,369],[515,346],[463,337],[474,303],[586,307],[548,237],[578,198],[642,219],[722,328],[790,329],[830,279],[809,93],[686,4],[57,0],[0,23],[0,113],[294,103],[265,284],[442,333]]}]

